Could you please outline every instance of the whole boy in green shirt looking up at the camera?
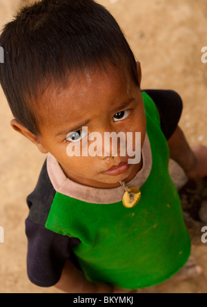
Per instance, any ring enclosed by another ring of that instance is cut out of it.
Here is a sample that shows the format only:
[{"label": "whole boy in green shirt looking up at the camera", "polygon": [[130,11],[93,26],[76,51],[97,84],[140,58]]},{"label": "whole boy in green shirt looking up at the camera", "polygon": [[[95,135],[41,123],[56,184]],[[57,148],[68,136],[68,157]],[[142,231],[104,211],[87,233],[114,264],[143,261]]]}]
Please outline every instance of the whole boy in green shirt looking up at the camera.
[{"label": "whole boy in green shirt looking up at the camera", "polygon": [[[190,240],[168,174],[169,151],[189,178],[207,175],[206,147],[190,149],[177,127],[177,93],[141,91],[140,64],[115,19],[92,0],[24,8],[0,45],[11,125],[48,154],[27,199],[30,280],[66,292],[110,293],[175,275],[188,260]],[[133,151],[141,133],[140,160],[129,164],[133,157],[121,156],[121,142],[116,153],[103,142],[102,154],[68,156],[72,143],[82,153],[92,145],[88,133],[95,131],[132,133],[125,147]]]}]

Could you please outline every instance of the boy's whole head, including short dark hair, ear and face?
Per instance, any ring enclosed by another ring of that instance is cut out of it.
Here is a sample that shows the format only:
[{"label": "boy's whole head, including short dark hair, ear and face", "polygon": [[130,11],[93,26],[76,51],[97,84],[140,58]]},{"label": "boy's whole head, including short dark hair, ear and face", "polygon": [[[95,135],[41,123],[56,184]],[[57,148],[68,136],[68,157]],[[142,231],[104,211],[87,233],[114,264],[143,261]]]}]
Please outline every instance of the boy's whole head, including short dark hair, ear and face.
[{"label": "boy's whole head, including short dark hair, ear and face", "polygon": [[[23,8],[6,25],[0,46],[5,53],[0,81],[15,117],[12,127],[43,153],[50,151],[74,180],[104,185],[124,179],[124,174],[103,174],[109,166],[126,162],[123,158],[96,157],[99,173],[96,169],[89,176],[83,157],[76,158],[73,168],[75,158],[66,156],[68,133],[79,131],[82,123],[88,132],[139,131],[144,140],[141,71],[112,15],[93,0],[43,0]],[[129,107],[123,109],[126,102]],[[61,131],[65,134],[59,135]],[[94,164],[95,158],[90,159]],[[135,165],[125,176],[132,169]]]}]

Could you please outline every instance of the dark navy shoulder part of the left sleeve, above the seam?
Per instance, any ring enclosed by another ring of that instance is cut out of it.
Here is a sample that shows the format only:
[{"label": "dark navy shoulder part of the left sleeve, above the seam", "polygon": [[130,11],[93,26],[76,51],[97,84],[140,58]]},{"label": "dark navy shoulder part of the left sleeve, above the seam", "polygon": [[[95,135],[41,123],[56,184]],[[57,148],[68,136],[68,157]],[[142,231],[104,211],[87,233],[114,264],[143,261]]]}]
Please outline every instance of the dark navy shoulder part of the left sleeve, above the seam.
[{"label": "dark navy shoulder part of the left sleeve, above the seam", "polygon": [[52,186],[47,170],[47,159],[34,191],[27,197],[30,214],[28,218],[35,224],[45,225],[56,191]]}]

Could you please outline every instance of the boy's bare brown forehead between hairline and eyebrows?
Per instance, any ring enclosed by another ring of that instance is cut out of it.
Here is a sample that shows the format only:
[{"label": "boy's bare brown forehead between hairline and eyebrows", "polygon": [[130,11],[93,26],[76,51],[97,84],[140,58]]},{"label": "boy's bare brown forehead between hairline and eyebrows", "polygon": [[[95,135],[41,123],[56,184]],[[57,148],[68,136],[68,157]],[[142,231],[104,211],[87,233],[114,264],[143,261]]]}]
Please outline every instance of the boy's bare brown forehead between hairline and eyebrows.
[{"label": "boy's bare brown forehead between hairline and eyebrows", "polygon": [[[73,120],[93,109],[106,108],[128,96],[135,86],[130,74],[121,68],[86,68],[68,77],[66,84],[50,84],[38,103],[41,122]],[[108,102],[108,103],[107,103]],[[64,116],[64,117],[63,117]]]}]

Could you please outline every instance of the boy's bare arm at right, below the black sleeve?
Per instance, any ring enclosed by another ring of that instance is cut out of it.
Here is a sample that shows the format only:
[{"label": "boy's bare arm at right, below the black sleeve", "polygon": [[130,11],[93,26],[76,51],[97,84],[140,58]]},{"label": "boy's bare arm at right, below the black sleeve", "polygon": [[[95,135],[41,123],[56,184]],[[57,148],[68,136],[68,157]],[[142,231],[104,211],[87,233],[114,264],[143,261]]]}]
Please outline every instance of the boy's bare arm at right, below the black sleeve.
[{"label": "boy's bare arm at right, below the black sleeve", "polygon": [[197,180],[207,176],[207,147],[197,145],[191,149],[180,127],[168,140],[168,147],[170,158],[184,169],[188,178]]}]

